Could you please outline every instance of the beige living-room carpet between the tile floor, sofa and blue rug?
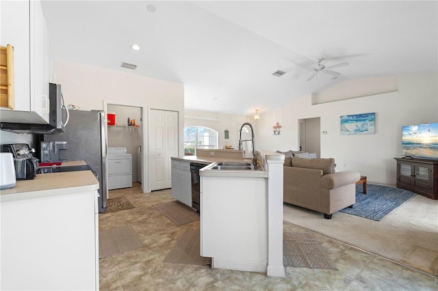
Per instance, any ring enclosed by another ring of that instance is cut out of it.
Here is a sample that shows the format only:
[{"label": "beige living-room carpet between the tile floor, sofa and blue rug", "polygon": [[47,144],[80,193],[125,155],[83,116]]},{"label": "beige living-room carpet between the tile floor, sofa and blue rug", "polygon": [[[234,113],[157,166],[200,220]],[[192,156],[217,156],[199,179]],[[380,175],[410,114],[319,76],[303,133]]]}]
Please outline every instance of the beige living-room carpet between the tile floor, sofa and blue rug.
[{"label": "beige living-room carpet between the tile floor, sofa and blue rug", "polygon": [[286,222],[438,276],[438,200],[415,195],[381,221],[343,212],[324,219],[319,212],[284,205]]}]

